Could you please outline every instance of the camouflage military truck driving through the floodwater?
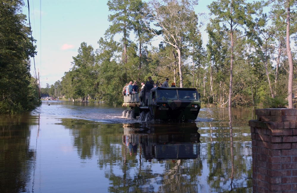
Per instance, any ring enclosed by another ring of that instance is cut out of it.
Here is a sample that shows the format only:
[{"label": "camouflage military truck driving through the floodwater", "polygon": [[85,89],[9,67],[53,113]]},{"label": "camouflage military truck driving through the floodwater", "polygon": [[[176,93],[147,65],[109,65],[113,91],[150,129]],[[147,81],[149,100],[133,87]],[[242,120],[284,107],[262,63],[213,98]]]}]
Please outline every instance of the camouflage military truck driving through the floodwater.
[{"label": "camouflage military truck driving through the floodwater", "polygon": [[124,96],[123,106],[134,110],[134,118],[141,121],[152,119],[195,120],[200,110],[200,94],[196,89],[154,87],[149,91]]}]

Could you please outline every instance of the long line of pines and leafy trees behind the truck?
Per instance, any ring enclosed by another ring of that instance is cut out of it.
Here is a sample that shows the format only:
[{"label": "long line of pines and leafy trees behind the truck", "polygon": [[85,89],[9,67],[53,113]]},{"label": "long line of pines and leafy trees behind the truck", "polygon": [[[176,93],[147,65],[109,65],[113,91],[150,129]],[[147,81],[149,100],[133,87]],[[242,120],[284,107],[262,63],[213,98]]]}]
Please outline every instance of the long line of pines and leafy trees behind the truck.
[{"label": "long line of pines and leafy trees behind the truck", "polygon": [[125,83],[151,76],[197,88],[207,105],[292,108],[297,2],[217,0],[208,6],[210,16],[194,11],[196,0],[107,4],[112,24],[99,48],[81,43],[71,69],[44,92],[121,104]]}]

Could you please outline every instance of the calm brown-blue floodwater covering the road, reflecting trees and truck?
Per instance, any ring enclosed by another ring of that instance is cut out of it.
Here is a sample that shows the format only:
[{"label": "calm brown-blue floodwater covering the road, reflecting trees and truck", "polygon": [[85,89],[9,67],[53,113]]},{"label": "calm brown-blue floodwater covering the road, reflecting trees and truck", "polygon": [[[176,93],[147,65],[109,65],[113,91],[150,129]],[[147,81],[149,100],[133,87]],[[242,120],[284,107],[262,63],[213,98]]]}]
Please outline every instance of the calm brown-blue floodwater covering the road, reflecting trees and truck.
[{"label": "calm brown-blue floodwater covering the road, reflecting trees and truck", "polygon": [[252,192],[253,112],[140,123],[121,106],[43,101],[0,115],[0,192]]}]

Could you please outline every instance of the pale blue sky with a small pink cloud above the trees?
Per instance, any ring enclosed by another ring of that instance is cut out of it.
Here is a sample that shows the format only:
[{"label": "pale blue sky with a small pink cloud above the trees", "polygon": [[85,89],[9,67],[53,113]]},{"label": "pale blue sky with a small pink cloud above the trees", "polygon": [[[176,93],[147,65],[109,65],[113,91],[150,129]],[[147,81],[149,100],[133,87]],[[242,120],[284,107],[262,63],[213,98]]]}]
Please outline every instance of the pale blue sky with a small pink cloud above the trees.
[{"label": "pale blue sky with a small pink cloud above the trees", "polygon": [[[207,12],[207,5],[212,0],[198,1],[196,13]],[[28,18],[28,2],[24,0],[23,13]],[[72,57],[78,55],[82,42],[92,45],[94,50],[97,42],[104,37],[108,29],[109,12],[107,0],[29,0],[30,23],[32,36],[36,39],[37,55],[31,58],[31,74],[40,77],[40,86],[61,81],[73,62]],[[201,31],[203,39],[206,32]]]}]

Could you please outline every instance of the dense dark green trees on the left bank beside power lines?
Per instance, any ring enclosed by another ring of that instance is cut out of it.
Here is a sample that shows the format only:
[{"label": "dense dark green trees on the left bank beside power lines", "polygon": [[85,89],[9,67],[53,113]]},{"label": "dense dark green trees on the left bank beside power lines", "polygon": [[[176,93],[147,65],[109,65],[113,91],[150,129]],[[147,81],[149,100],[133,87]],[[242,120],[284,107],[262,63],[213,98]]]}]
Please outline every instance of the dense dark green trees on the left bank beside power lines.
[{"label": "dense dark green trees on the left bank beside power lines", "polygon": [[37,80],[30,74],[35,40],[21,13],[23,6],[21,0],[0,0],[0,114],[40,105]]}]

